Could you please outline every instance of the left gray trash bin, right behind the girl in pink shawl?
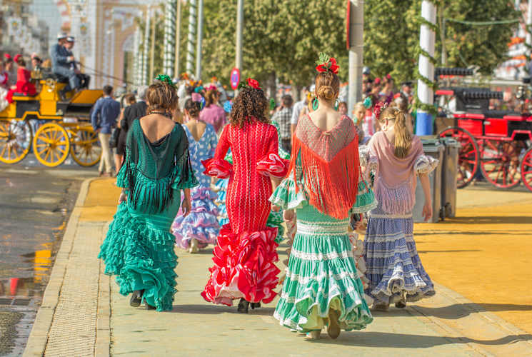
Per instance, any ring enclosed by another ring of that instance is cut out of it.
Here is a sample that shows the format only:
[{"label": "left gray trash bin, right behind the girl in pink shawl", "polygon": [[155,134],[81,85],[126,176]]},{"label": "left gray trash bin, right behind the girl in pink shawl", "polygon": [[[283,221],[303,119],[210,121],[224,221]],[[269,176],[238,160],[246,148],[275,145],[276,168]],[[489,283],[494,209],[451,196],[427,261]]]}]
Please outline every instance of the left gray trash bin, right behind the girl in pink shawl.
[{"label": "left gray trash bin, right behind the girl in pink shawl", "polygon": [[[428,174],[428,179],[431,183],[431,196],[432,196],[432,218],[428,222],[437,222],[440,220],[441,209],[441,166],[443,164],[443,151],[445,146],[440,143],[438,139],[421,139],[423,143],[423,151],[428,156],[432,156],[434,159],[438,159],[440,162],[436,169]],[[423,220],[423,205],[425,204],[425,196],[423,195],[423,187],[418,178],[416,185],[416,205],[413,206],[412,218],[414,222],[424,222]]]}]

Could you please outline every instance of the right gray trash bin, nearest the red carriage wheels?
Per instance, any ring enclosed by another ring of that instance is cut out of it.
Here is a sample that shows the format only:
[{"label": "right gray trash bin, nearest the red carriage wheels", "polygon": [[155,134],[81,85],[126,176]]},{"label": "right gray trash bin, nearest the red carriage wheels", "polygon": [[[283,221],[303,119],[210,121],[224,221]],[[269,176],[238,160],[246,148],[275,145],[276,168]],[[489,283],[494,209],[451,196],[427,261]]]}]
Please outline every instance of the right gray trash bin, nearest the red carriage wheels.
[{"label": "right gray trash bin, nearest the red carriage wheels", "polygon": [[441,212],[440,218],[456,216],[456,175],[458,174],[458,153],[461,145],[453,138],[441,138],[443,166],[441,168]]}]

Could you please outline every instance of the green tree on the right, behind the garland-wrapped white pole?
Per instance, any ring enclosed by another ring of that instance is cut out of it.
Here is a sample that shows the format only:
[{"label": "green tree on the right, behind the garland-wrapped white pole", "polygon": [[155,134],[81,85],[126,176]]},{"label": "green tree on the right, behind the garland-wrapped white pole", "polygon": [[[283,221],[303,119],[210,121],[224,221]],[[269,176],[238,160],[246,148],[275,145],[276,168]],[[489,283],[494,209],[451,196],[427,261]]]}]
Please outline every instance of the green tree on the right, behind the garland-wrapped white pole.
[{"label": "green tree on the right, behind the garland-wrapped white pole", "polygon": [[[438,15],[461,21],[518,19],[511,1],[435,0]],[[391,73],[399,81],[414,79],[418,66],[421,0],[366,0],[364,4],[364,63],[376,76]],[[507,43],[516,24],[463,25],[446,21],[447,66],[480,67],[491,74],[507,59]],[[436,59],[441,39],[436,36]]]}]

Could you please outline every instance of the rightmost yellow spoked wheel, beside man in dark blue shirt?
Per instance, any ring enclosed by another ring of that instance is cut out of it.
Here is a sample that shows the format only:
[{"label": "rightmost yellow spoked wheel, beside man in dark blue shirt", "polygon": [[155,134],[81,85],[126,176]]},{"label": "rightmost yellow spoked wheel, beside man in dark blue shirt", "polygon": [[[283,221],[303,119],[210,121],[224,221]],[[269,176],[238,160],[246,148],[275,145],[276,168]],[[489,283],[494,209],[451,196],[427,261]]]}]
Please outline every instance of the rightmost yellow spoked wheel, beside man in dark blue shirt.
[{"label": "rightmost yellow spoked wheel, beside man in dark blue shirt", "polygon": [[101,146],[98,136],[91,126],[73,131],[70,138],[72,159],[81,166],[94,166],[101,158]]}]

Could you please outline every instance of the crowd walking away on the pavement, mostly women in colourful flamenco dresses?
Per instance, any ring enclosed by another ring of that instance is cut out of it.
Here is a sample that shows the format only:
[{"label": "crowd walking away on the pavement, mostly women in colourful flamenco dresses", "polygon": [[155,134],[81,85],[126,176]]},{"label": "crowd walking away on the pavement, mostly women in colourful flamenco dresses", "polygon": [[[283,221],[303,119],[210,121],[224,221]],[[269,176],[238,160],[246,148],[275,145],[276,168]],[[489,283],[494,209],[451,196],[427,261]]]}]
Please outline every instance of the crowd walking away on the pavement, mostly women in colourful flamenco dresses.
[{"label": "crowd walking away on the pavement, mostly women in colourful flamenco dresses", "polygon": [[[206,301],[236,300],[247,313],[278,295],[273,316],[312,339],[323,328],[331,338],[364,328],[373,321],[370,306],[404,308],[435,293],[411,212],[419,177],[423,216],[431,217],[428,174],[438,162],[423,154],[406,104],[397,100],[409,99],[394,94],[390,77],[381,89],[381,81],[367,79],[368,98],[376,99],[357,104],[351,119],[338,101],[336,60],[320,58],[308,95],[296,104],[283,96],[278,109],[254,79],[224,108],[215,79],[178,87],[158,76],[139,90],[139,101],[126,96],[121,113],[105,89],[93,125],[108,140],[106,121],[121,118],[122,191],[99,258],[131,306],[171,310],[174,246],[196,253],[209,244]],[[106,168],[111,159],[102,161]],[[365,234],[363,245],[356,232]],[[280,276],[283,239],[288,259]]]}]

